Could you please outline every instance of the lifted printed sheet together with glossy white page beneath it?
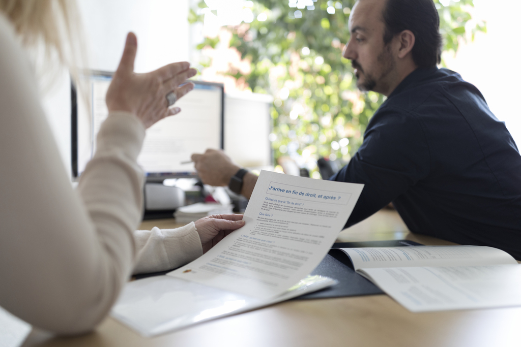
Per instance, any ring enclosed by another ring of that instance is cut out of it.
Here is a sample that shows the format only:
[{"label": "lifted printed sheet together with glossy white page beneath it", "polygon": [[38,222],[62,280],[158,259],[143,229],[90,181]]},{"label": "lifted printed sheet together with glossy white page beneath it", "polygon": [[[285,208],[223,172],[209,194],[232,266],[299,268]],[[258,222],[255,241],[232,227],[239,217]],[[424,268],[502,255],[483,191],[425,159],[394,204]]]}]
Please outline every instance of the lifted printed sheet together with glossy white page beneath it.
[{"label": "lifted printed sheet together with glossy white page beneath it", "polygon": [[307,275],[330,250],[362,188],[262,171],[242,228],[165,276],[127,284],[112,315],[151,336],[334,284]]}]

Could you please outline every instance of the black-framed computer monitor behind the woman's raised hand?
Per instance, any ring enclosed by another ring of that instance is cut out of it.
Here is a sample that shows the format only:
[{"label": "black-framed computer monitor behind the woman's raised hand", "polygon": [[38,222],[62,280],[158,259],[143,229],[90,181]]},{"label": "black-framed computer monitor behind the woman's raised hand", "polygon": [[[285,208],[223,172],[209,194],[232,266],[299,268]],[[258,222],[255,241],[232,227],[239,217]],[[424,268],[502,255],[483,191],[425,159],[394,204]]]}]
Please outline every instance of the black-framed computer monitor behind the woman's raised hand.
[{"label": "black-framed computer monitor behind the woman's raised hand", "polygon": [[[112,79],[109,72],[91,71],[90,108],[71,88],[72,176],[78,178],[96,150],[96,135],[107,118],[105,95]],[[181,112],[146,130],[138,157],[148,182],[166,178],[195,177],[192,153],[224,148],[224,86],[192,81],[193,91],[176,102]],[[166,100],[165,100],[166,103]]]}]

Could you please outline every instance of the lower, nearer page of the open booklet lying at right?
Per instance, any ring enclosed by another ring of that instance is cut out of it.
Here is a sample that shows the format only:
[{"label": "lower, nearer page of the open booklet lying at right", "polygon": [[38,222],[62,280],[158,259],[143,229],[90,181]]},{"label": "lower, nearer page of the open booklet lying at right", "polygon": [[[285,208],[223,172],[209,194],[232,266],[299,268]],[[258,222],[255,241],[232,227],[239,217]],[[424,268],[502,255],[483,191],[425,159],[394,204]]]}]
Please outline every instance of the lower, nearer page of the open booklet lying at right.
[{"label": "lower, nearer page of the open booklet lying at right", "polygon": [[361,270],[412,312],[521,305],[521,266],[398,267]]}]

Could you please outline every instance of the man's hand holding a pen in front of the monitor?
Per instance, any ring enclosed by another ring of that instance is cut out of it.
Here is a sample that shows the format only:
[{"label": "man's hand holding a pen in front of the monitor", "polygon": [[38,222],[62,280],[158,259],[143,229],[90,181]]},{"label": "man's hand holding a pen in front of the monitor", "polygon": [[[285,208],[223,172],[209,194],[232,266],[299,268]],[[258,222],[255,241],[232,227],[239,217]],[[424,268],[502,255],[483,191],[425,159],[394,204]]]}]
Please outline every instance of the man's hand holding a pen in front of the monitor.
[{"label": "man's hand holding a pen in front of the monitor", "polygon": [[192,160],[201,181],[210,186],[227,186],[230,178],[241,169],[223,151],[216,149],[193,154]]}]

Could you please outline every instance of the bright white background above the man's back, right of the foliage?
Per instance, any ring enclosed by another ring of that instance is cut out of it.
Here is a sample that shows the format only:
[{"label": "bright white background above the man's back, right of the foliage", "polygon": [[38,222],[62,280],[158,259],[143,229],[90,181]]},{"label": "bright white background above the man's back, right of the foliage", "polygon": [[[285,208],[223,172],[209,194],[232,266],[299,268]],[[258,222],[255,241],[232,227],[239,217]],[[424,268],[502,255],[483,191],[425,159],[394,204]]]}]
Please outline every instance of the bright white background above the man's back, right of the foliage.
[{"label": "bright white background above the man's back, right of the foliage", "polygon": [[518,0],[474,0],[473,18],[487,21],[487,33],[478,33],[474,42],[462,43],[455,58],[446,58],[451,70],[474,84],[490,110],[504,121],[517,146],[521,146],[521,95],[518,27],[521,2]]}]

